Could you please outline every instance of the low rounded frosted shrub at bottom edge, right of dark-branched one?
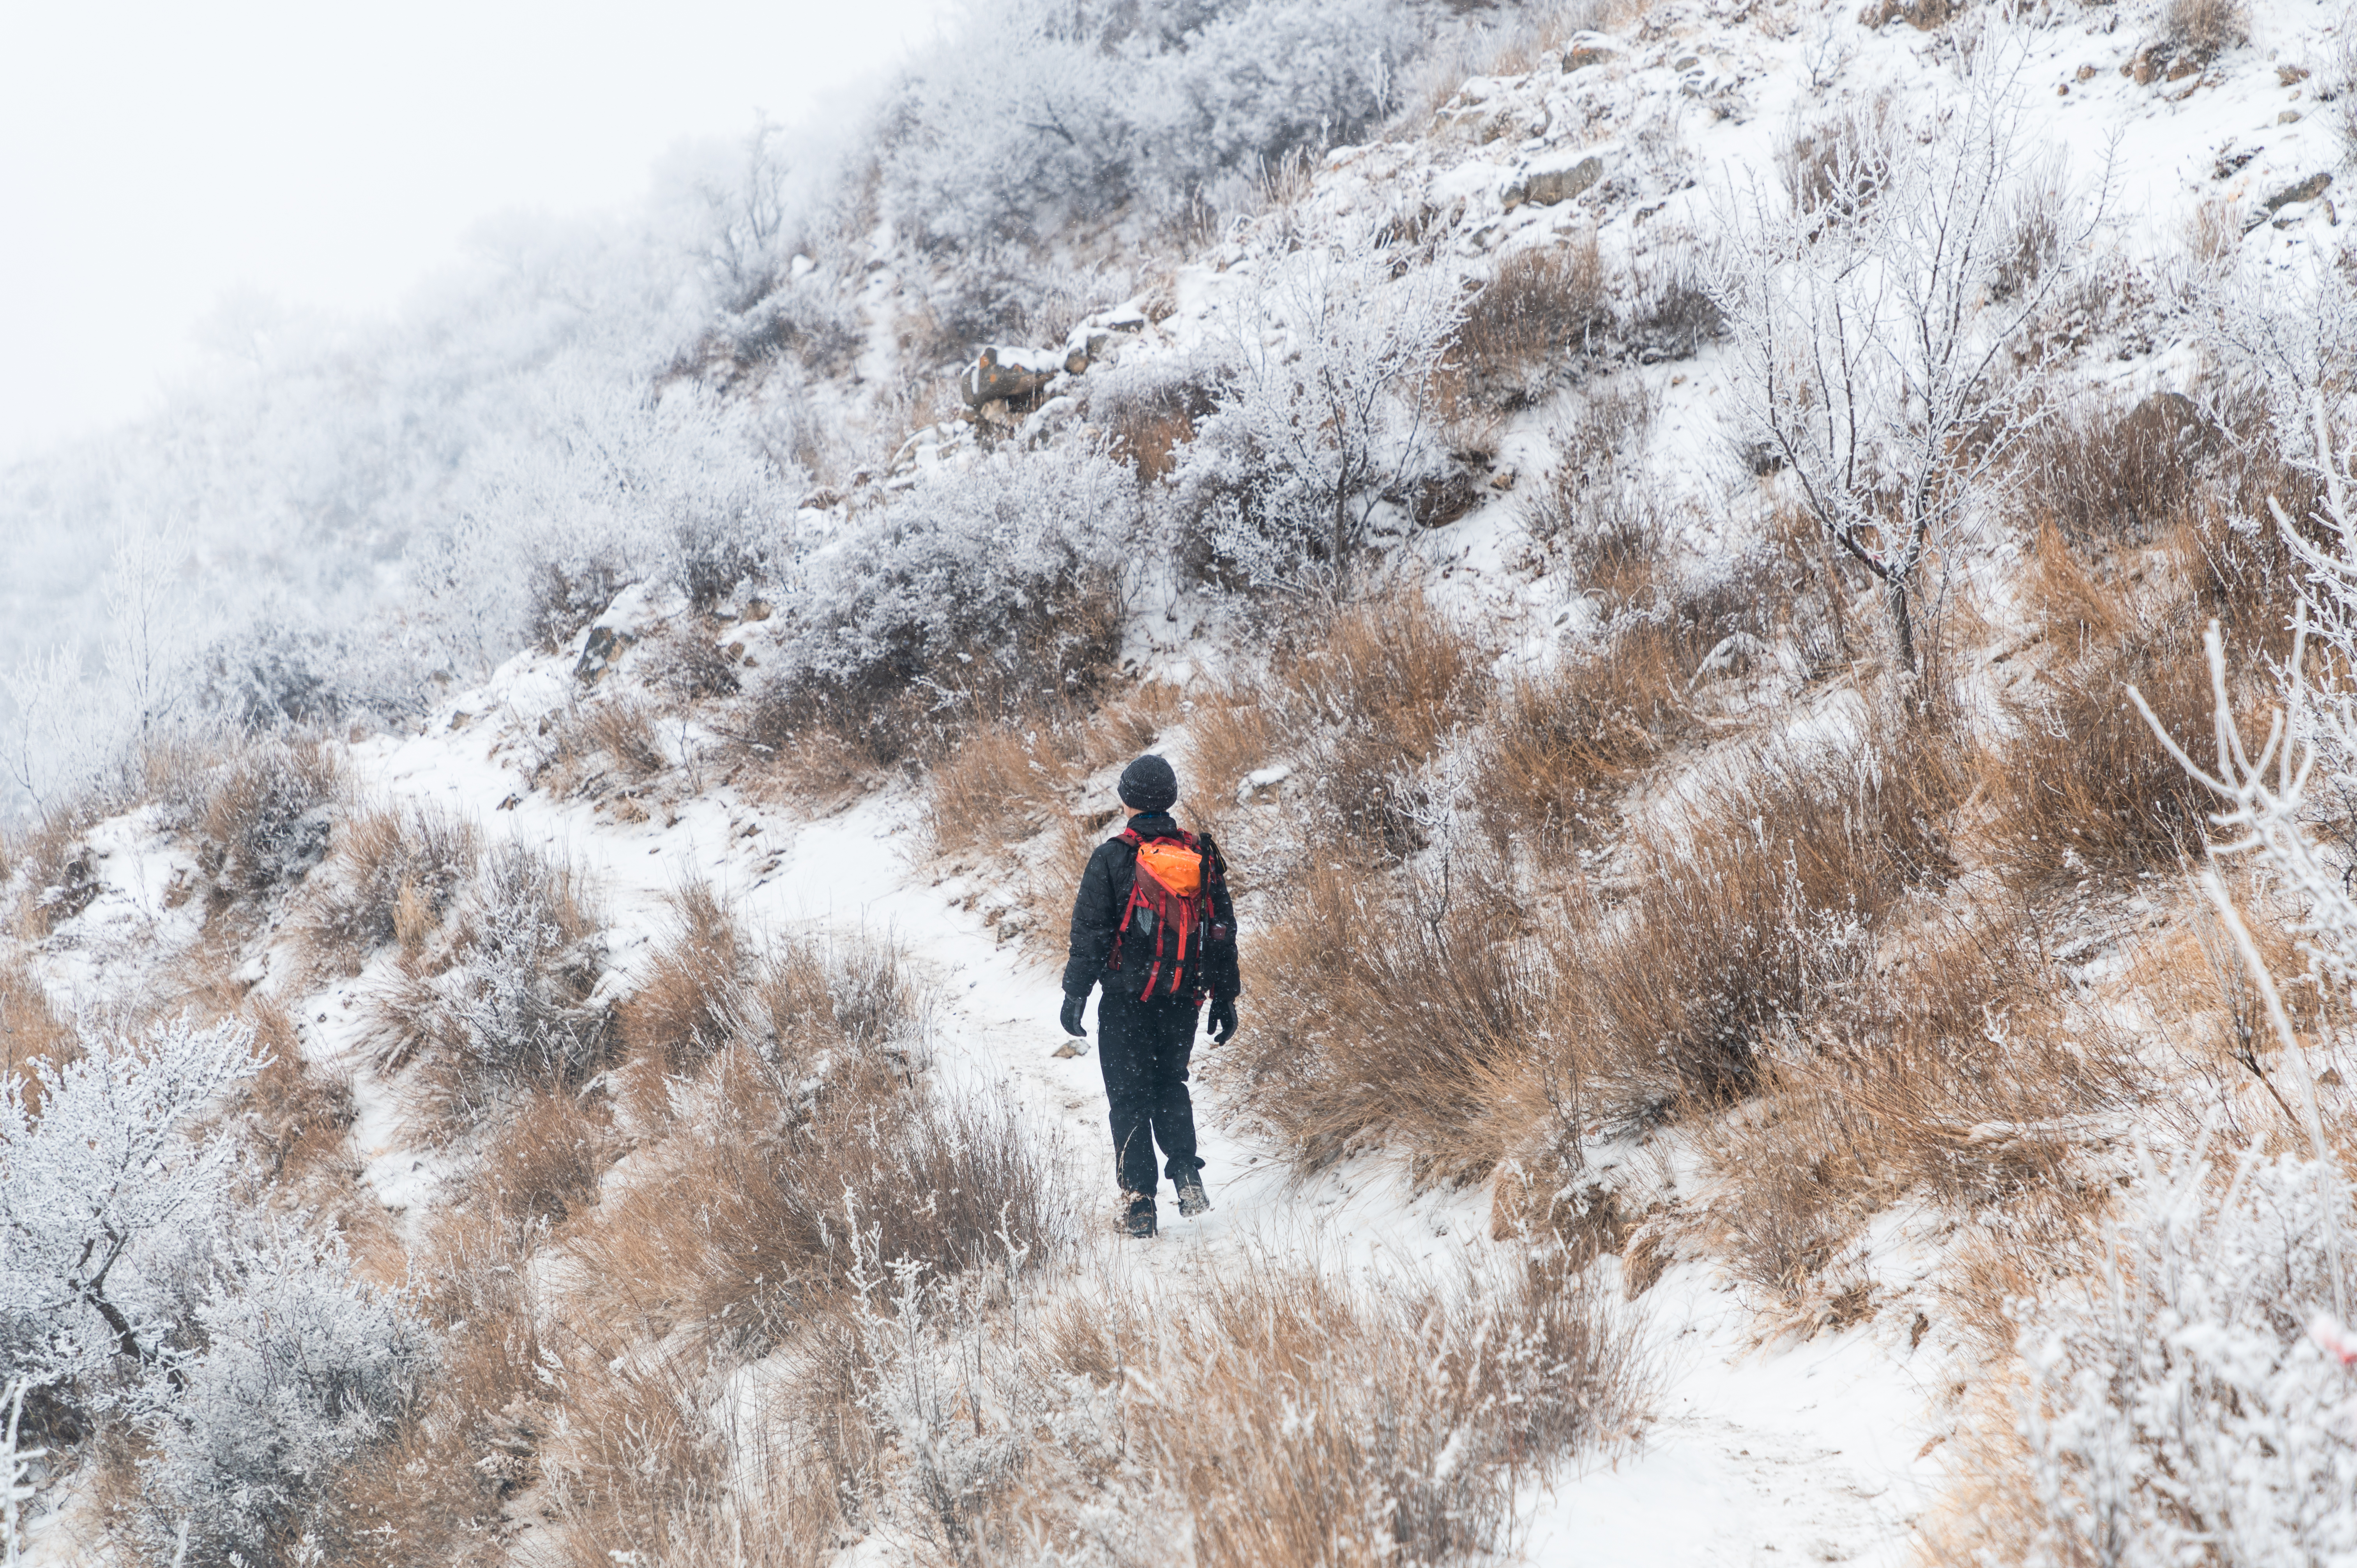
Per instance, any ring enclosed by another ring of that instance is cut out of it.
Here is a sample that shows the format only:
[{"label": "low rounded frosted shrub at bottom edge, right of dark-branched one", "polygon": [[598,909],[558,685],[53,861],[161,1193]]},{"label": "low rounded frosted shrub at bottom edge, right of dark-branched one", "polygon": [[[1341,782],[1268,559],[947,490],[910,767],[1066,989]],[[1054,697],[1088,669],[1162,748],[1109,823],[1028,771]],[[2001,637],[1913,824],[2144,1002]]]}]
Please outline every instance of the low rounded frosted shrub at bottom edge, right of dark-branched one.
[{"label": "low rounded frosted shrub at bottom edge, right of dark-branched one", "polygon": [[398,1294],[354,1278],[342,1238],[280,1221],[233,1250],[193,1316],[198,1349],[141,1401],[148,1547],[191,1568],[264,1563],[408,1408],[431,1339]]}]

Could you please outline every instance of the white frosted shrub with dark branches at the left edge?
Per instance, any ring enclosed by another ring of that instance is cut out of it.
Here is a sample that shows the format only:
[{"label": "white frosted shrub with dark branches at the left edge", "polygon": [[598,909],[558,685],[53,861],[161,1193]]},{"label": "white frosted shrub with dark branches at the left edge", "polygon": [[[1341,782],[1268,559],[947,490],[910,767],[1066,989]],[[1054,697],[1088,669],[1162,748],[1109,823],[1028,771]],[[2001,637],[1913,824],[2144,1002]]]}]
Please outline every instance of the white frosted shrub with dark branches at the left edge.
[{"label": "white frosted shrub with dark branches at the left edge", "polygon": [[200,1120],[262,1059],[238,1021],[80,1035],[80,1059],[0,1078],[0,1382],[94,1391],[179,1330],[236,1160]]}]

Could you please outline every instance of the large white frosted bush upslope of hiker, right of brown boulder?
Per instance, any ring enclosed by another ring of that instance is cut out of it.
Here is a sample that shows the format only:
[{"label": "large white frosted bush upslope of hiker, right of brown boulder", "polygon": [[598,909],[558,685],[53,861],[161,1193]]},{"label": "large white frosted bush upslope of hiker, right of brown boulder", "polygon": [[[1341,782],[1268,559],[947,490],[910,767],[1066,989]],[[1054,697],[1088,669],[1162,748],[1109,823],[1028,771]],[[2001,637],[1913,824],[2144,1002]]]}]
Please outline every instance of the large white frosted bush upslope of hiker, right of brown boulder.
[{"label": "large white frosted bush upslope of hiker, right of brown boulder", "polygon": [[1372,224],[1346,224],[1263,259],[1235,299],[1235,373],[1174,486],[1256,585],[1348,580],[1376,507],[1428,457],[1431,377],[1464,307],[1438,269],[1393,281],[1391,259]]}]

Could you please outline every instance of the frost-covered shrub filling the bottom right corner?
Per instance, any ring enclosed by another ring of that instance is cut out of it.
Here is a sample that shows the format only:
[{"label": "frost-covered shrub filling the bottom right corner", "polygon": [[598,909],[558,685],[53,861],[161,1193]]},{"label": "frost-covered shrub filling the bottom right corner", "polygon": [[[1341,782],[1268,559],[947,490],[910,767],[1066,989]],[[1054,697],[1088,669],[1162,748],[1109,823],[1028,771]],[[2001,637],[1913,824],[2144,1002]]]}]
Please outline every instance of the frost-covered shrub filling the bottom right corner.
[{"label": "frost-covered shrub filling the bottom right corner", "polygon": [[2145,1172],[2086,1294],[2022,1323],[2032,1563],[2357,1561],[2357,1372],[2341,1172]]}]

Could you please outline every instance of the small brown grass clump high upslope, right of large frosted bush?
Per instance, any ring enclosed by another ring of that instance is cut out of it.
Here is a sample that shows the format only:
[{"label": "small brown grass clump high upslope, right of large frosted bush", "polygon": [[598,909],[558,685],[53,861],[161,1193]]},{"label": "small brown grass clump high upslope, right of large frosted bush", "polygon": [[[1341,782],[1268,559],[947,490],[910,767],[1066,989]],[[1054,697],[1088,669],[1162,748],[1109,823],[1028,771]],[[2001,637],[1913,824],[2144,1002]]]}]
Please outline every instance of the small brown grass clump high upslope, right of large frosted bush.
[{"label": "small brown grass clump high upslope, right of large frosted bush", "polygon": [[1442,375],[1487,408],[1530,408],[1612,325],[1596,236],[1516,250],[1473,295]]}]

